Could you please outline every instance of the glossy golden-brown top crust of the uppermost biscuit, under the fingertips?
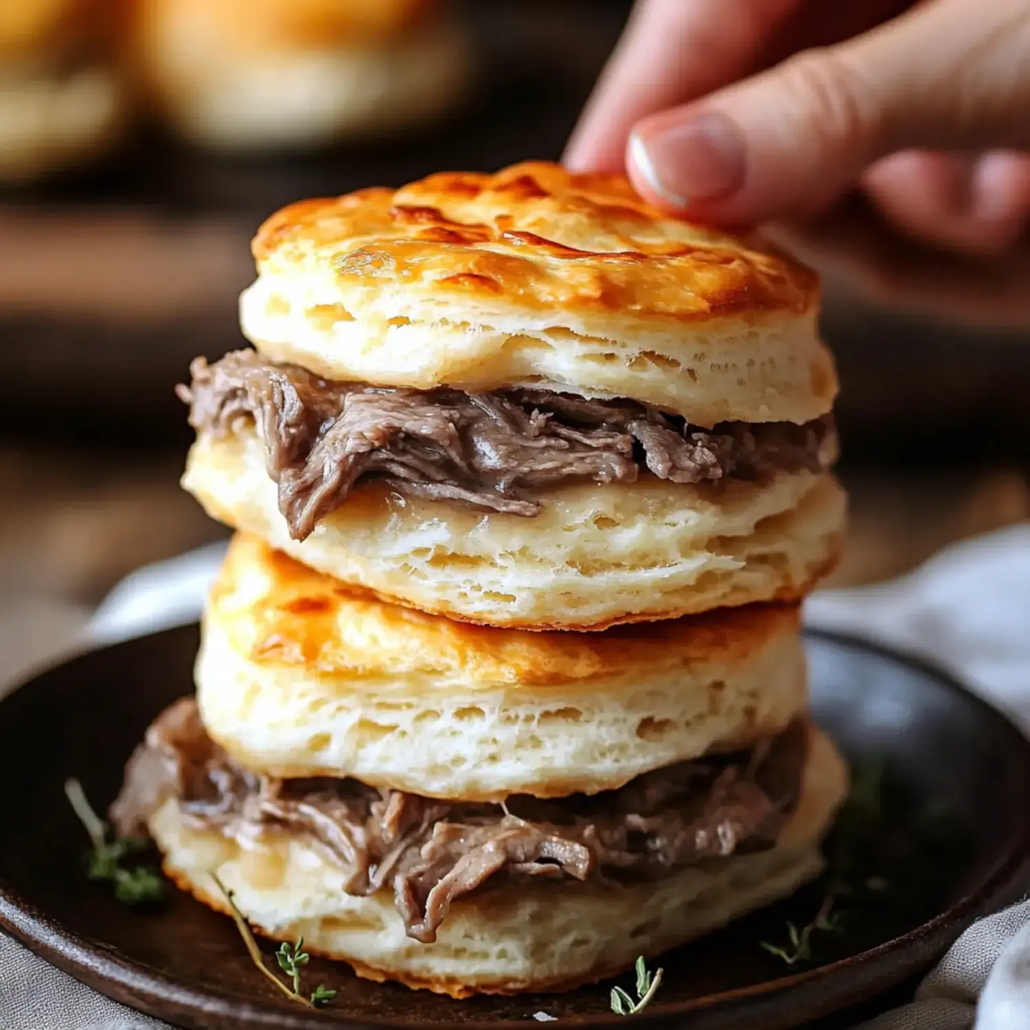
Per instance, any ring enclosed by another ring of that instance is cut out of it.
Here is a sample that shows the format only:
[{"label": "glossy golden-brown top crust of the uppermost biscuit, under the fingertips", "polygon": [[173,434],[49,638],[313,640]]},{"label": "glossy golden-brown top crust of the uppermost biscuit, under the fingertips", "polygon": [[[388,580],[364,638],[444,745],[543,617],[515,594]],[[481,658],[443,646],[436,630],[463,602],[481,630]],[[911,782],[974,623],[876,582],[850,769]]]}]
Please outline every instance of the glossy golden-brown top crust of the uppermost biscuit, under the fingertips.
[{"label": "glossy golden-brown top crust of the uppermost biscuit, under the fingertips", "polygon": [[622,175],[549,162],[302,201],[261,227],[253,253],[270,275],[403,284],[491,308],[695,320],[800,314],[818,300],[815,274],[784,254],[662,212]]}]

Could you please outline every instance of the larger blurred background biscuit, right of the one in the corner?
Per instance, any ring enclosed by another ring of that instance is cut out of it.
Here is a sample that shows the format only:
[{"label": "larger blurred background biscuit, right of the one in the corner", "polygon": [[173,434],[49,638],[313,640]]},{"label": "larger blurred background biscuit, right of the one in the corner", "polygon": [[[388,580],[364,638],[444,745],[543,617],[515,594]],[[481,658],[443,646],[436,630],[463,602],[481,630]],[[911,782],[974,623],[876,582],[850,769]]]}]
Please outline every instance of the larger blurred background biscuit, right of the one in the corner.
[{"label": "larger blurred background biscuit, right of the one in the corner", "polygon": [[439,0],[137,2],[140,79],[181,135],[209,147],[411,129],[469,84],[469,40]]}]

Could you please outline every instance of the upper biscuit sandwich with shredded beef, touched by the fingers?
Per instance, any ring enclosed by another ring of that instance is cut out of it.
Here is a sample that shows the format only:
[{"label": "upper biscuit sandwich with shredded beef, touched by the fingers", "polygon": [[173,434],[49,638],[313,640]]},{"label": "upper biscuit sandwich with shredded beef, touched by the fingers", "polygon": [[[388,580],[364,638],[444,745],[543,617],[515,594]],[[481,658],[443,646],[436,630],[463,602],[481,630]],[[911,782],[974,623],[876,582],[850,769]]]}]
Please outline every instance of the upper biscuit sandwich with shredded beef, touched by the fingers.
[{"label": "upper biscuit sandwich with shredded beef, touched by the fingers", "polygon": [[494,626],[797,600],[845,497],[818,281],[535,162],[284,208],[198,360],[183,484],[337,579]]}]

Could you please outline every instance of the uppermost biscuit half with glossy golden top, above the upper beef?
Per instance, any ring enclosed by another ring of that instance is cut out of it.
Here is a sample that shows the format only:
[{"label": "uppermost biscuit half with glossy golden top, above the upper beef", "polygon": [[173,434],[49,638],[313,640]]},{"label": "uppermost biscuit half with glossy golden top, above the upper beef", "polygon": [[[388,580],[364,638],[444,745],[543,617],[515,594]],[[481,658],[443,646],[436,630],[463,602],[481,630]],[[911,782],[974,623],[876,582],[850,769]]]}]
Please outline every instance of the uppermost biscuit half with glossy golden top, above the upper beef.
[{"label": "uppermost biscuit half with glossy golden top, above the upper beef", "polygon": [[814,273],[621,176],[528,162],[303,201],[253,251],[244,333],[330,378],[626,397],[698,425],[805,422],[836,393]]}]

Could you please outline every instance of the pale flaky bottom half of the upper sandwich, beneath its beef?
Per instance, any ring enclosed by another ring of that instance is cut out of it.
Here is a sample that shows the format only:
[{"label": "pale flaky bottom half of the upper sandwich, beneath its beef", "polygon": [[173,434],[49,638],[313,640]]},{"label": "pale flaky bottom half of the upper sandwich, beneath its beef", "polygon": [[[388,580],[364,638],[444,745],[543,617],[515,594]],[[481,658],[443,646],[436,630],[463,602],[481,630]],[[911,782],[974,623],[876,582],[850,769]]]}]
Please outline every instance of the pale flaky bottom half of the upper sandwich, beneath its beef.
[{"label": "pale flaky bottom half of the upper sandwich, beneath its beef", "polygon": [[451,618],[603,629],[797,600],[835,563],[846,497],[829,474],[767,483],[570,485],[534,518],[369,483],[307,540],[289,535],[252,431],[202,436],[183,486],[208,514],[335,578]]}]

